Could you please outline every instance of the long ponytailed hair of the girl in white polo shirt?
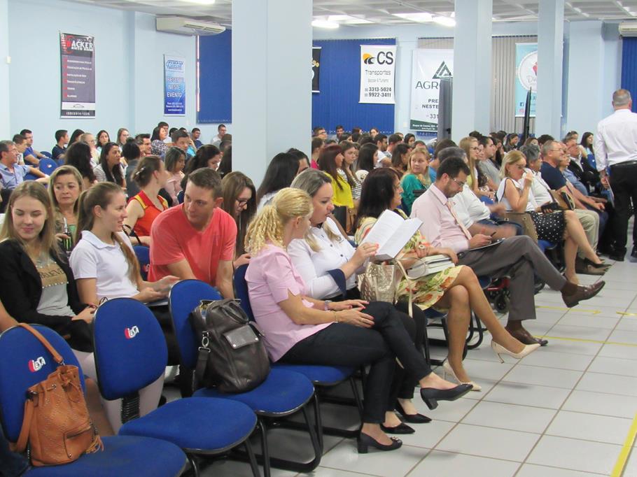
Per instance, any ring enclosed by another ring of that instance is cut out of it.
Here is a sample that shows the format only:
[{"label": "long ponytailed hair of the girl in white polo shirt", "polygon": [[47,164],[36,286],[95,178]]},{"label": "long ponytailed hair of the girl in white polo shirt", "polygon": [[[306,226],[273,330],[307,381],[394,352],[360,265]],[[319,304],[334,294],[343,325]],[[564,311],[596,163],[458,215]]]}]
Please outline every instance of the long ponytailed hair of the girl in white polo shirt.
[{"label": "long ponytailed hair of the girl in white polo shirt", "polygon": [[[83,230],[90,231],[90,229],[93,228],[95,223],[93,209],[96,206],[100,206],[102,208],[108,207],[113,200],[113,196],[116,194],[123,194],[122,188],[112,182],[97,183],[80,194],[80,198],[78,199],[79,213],[78,227],[76,229],[75,237],[76,243],[78,243],[80,234]],[[119,234],[113,233],[111,234],[111,237],[115,243],[120,245],[120,249],[122,250],[124,257],[126,257],[126,262],[128,264],[128,276],[130,277],[130,280],[132,283],[137,283],[137,276],[139,276],[139,262],[137,261],[137,257],[127,243],[122,240]]]}]

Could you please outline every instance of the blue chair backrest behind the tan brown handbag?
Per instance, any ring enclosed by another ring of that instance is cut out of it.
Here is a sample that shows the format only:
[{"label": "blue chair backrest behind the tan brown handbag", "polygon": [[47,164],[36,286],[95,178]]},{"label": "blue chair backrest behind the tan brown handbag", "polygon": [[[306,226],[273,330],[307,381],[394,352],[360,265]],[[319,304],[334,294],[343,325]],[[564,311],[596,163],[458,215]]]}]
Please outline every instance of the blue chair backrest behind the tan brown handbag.
[{"label": "blue chair backrest behind the tan brown handbag", "polygon": [[[48,327],[32,326],[51,343],[65,364],[80,367],[62,336]],[[0,416],[9,441],[17,441],[20,435],[27,389],[45,380],[56,368],[48,350],[26,329],[13,327],[0,334]],[[84,386],[81,369],[80,380]]]}]

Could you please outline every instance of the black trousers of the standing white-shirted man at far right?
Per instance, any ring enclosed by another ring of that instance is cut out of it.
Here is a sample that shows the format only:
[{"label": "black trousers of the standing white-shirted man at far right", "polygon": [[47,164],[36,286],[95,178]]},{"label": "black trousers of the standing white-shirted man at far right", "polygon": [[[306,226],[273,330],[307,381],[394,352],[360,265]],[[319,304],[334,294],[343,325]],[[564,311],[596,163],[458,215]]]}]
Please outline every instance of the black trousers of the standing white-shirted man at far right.
[{"label": "black trousers of the standing white-shirted man at far right", "polygon": [[[615,250],[626,253],[631,200],[633,207],[637,207],[637,164],[610,166],[610,188],[615,195],[615,218],[612,220]],[[633,227],[633,246],[637,246],[637,222]]]}]

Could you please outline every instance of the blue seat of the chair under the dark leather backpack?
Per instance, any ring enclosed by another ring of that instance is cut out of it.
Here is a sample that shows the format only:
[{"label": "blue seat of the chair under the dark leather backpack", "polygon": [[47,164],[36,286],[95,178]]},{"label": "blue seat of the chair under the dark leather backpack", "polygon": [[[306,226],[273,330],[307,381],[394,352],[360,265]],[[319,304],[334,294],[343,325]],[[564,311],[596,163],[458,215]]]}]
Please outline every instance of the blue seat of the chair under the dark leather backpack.
[{"label": "blue seat of the chair under the dark leather backpack", "polygon": [[247,404],[262,415],[289,415],[302,408],[314,395],[314,386],[302,374],[276,367],[255,389],[238,394],[223,393],[214,388],[202,387],[195,397],[223,397]]}]

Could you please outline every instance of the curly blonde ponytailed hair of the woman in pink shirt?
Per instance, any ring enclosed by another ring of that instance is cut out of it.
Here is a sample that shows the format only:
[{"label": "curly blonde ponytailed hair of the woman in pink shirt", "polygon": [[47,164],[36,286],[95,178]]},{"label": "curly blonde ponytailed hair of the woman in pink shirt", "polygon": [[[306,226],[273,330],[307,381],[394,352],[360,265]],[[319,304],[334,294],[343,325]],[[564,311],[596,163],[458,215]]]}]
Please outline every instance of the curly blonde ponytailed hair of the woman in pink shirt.
[{"label": "curly blonde ponytailed hair of the woman in pink shirt", "polygon": [[262,208],[248,227],[246,251],[254,255],[267,242],[283,248],[283,227],[290,220],[307,217],[311,212],[311,198],[307,192],[293,187],[279,190],[272,205]]}]

